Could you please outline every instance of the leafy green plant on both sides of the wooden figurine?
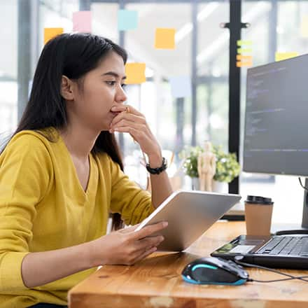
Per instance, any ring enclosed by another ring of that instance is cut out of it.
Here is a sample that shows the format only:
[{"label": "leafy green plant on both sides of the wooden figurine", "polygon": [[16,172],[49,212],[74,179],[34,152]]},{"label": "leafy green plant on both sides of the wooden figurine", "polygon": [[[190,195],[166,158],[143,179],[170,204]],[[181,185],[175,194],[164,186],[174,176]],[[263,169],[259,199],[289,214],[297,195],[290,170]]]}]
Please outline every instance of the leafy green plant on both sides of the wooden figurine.
[{"label": "leafy green plant on both sides of the wooden figurine", "polygon": [[[183,169],[193,181],[199,177],[197,170],[197,160],[200,153],[204,150],[200,146],[189,147],[181,152],[181,158],[184,160]],[[216,155],[216,173],[214,175],[214,187],[217,183],[230,183],[239,176],[241,170],[237,155],[235,153],[225,153],[222,146],[213,146],[213,153]],[[195,185],[196,187],[196,185]],[[214,190],[216,190],[214,188]]]}]

